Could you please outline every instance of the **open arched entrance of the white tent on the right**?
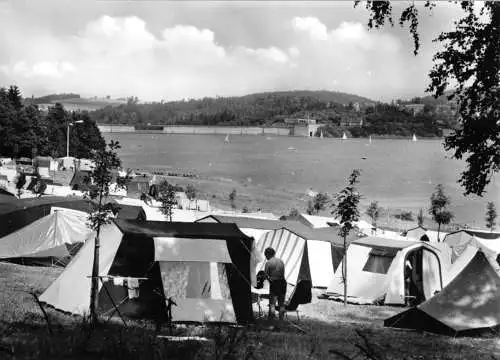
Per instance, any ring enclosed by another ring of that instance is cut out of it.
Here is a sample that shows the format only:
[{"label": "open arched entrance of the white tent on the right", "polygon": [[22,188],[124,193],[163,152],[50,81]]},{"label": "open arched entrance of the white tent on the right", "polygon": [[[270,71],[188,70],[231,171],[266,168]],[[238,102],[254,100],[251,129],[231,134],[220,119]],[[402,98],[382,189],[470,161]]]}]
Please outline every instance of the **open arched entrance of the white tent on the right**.
[{"label": "open arched entrance of the white tent on the right", "polygon": [[443,288],[441,264],[435,252],[424,247],[409,251],[404,262],[405,303],[416,306]]}]

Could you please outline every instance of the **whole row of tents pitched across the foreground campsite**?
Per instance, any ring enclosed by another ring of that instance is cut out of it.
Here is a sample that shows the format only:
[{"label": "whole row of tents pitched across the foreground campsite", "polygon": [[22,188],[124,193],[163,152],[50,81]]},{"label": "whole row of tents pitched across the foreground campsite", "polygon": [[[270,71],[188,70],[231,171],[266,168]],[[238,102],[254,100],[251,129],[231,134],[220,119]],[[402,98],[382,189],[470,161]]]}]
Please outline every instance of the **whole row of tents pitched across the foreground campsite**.
[{"label": "whole row of tents pitched across the foreground campsite", "polygon": [[[86,225],[91,204],[57,198],[16,201],[15,205],[0,204],[0,222],[6,225],[0,233],[0,258],[69,263],[40,299],[59,310],[84,314],[89,308],[95,240]],[[352,233],[344,254],[343,239],[335,226],[311,228],[297,221],[242,216],[196,218],[192,212],[184,216],[182,211],[178,216],[184,222],[151,221],[160,219],[156,218],[157,209],[130,204],[118,203],[122,209],[117,218],[100,235],[102,314],[119,311],[158,318],[164,316],[163,305],[170,299],[176,304],[172,307],[174,321],[247,322],[253,316],[255,274],[264,265],[264,249],[270,246],[285,263],[289,303],[310,302],[313,287],[324,289],[324,298],[340,298],[347,263],[350,302],[405,305],[408,298],[421,302],[407,315],[387,320],[387,326],[412,326],[419,318],[415,315],[418,310],[445,323],[451,332],[468,331],[437,317],[444,312],[436,304],[450,307],[460,301],[470,310],[464,311],[462,326],[475,329],[500,324],[498,307],[491,310],[498,304],[490,301],[500,295],[495,268],[495,246],[500,239],[495,234],[480,238],[481,234],[473,232],[452,233],[443,243],[432,243]],[[481,286],[490,287],[484,295],[490,300],[483,299],[483,307],[477,303],[479,297],[474,298]],[[476,292],[470,294],[471,289]],[[471,316],[476,320],[468,321]],[[435,321],[425,324],[431,331],[445,332]]]}]

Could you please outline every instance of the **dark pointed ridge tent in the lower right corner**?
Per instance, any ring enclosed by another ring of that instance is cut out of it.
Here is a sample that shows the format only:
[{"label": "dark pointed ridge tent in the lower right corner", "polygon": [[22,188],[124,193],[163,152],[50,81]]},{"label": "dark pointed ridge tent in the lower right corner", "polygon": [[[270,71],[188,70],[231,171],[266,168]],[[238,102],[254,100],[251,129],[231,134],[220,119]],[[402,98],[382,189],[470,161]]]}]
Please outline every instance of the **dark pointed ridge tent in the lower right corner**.
[{"label": "dark pointed ridge tent in the lower right corner", "polygon": [[451,336],[500,326],[500,273],[481,251],[439,294],[384,321],[384,326]]}]

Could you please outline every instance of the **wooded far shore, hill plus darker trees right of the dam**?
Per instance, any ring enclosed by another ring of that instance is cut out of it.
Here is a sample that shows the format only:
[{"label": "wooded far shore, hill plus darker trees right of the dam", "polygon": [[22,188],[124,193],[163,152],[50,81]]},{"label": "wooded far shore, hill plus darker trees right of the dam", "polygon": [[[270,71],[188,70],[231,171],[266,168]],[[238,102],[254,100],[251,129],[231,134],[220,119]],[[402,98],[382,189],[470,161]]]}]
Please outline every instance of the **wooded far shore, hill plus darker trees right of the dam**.
[{"label": "wooded far shore, hill plus darker trees right of the dam", "polygon": [[[352,101],[341,104],[315,96],[315,92],[305,94],[265,93],[147,104],[129,98],[127,104],[93,111],[91,117],[98,123],[134,125],[138,129],[159,125],[283,126],[286,118],[309,117],[325,124],[324,135],[332,137],[340,127],[354,137],[413,133],[442,136],[441,128],[448,126],[446,119],[432,111],[413,116],[397,105],[366,103],[356,109]],[[362,127],[345,125],[361,121]]]}]

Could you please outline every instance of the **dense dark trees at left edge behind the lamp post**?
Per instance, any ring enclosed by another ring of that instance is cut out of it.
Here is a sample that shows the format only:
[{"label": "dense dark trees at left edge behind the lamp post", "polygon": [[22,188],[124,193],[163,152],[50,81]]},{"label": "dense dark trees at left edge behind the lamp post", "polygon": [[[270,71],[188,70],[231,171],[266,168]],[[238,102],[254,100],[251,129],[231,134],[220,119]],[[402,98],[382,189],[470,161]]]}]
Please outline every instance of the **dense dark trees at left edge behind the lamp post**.
[{"label": "dense dark trees at left edge behind the lamp post", "polygon": [[90,158],[105,142],[87,112],[68,112],[54,104],[47,114],[24,101],[17,86],[0,88],[0,154],[6,157],[66,156],[69,129],[70,155]]}]

